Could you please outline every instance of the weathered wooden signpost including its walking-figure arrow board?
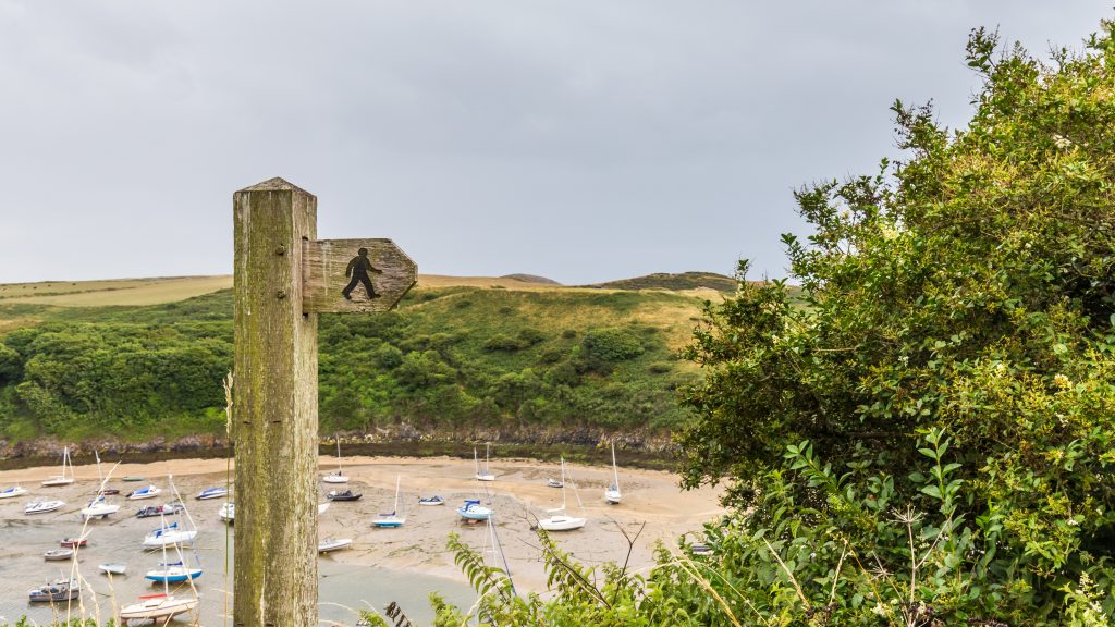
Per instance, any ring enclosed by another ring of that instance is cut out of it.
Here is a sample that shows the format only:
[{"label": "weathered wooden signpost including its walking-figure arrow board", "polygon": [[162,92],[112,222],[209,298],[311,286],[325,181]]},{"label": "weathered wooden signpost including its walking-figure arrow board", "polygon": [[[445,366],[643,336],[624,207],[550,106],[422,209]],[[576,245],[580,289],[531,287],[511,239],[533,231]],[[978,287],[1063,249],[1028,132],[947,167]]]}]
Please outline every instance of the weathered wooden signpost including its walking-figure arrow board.
[{"label": "weathered wooden signpost including its walking-figure arrow board", "polygon": [[317,240],[282,179],[233,195],[233,624],[318,625],[318,314],[387,311],[417,280],[390,240]]}]

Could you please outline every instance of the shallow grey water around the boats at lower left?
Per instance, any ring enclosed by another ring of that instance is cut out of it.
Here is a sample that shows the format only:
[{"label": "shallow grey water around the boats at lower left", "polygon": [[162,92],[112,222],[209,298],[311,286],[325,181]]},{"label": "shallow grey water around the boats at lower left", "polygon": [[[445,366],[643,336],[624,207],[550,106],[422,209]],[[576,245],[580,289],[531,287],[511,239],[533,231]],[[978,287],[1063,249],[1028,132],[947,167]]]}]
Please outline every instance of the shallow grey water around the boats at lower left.
[{"label": "shallow grey water around the boats at lower left", "polygon": [[[23,500],[20,500],[23,501]],[[122,502],[115,498],[115,502]],[[152,503],[154,501],[146,501]],[[231,625],[224,618],[225,589],[232,587],[232,563],[225,577],[225,525],[216,520],[216,509],[221,500],[193,502],[190,508],[198,522],[200,532],[195,541],[197,558],[204,575],[195,580],[202,598],[198,624],[204,627]],[[48,579],[65,577],[71,562],[48,562],[42,553],[57,548],[65,537],[78,536],[81,523],[71,508],[67,513],[45,514],[45,518],[22,517],[22,503],[0,504],[0,625],[14,623],[28,616],[38,624],[49,625],[56,617],[49,604],[28,602],[28,589]],[[136,602],[139,595],[162,592],[163,586],[144,579],[144,573],[163,560],[162,551],[144,551],[140,547],[144,533],[159,525],[159,519],[136,519],[134,513],[139,504],[127,503],[116,514],[105,521],[89,523],[89,544],[78,551],[80,575],[88,581],[83,590],[84,615],[100,616],[107,620],[114,614],[114,605]],[[212,511],[210,511],[212,510]],[[178,519],[173,517],[168,520]],[[181,524],[181,522],[180,522]],[[227,534],[232,544],[231,529]],[[193,562],[193,553],[186,551],[186,563]],[[173,549],[166,561],[176,561]],[[108,576],[97,570],[97,565],[119,561],[128,565],[124,577]],[[324,556],[319,558],[319,616],[322,625],[353,625],[355,609],[375,607],[382,610],[391,601],[419,625],[427,625],[433,618],[427,595],[437,591],[449,601],[469,607],[475,595],[467,586],[414,571],[397,571],[377,567],[340,563]],[[174,590],[172,585],[172,591]],[[183,585],[177,585],[183,586]],[[188,585],[185,585],[188,594]],[[231,601],[231,599],[230,599]],[[99,605],[99,614],[97,609]],[[348,609],[352,608],[352,609]],[[61,617],[66,607],[62,605]],[[83,609],[74,601],[71,616],[81,616]],[[172,625],[191,625],[191,615],[180,616]]]}]

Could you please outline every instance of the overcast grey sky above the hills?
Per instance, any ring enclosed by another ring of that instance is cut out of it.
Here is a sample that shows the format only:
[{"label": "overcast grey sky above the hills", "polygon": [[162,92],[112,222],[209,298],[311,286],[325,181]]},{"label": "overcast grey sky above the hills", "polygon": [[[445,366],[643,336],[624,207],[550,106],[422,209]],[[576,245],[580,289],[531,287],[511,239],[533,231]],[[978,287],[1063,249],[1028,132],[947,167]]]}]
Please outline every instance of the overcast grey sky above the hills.
[{"label": "overcast grey sky above the hills", "polygon": [[791,191],[962,124],[969,29],[1112,0],[0,0],[0,282],[231,272],[232,193],[442,274],[784,276]]}]

